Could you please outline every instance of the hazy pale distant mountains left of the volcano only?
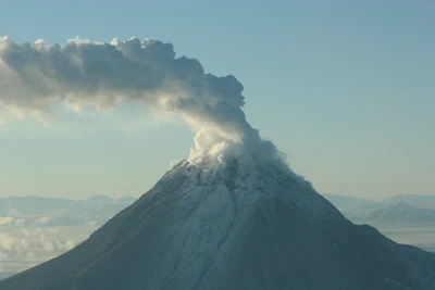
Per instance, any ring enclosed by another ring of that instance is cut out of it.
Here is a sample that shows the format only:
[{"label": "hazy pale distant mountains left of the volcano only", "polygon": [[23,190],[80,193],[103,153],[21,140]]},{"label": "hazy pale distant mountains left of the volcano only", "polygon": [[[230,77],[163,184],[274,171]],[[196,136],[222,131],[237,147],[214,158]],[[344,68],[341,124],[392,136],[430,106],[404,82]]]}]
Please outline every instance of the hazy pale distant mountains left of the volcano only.
[{"label": "hazy pale distant mountains left of the volcano only", "polygon": [[94,196],[85,200],[41,197],[0,199],[0,227],[4,226],[101,226],[136,198]]}]

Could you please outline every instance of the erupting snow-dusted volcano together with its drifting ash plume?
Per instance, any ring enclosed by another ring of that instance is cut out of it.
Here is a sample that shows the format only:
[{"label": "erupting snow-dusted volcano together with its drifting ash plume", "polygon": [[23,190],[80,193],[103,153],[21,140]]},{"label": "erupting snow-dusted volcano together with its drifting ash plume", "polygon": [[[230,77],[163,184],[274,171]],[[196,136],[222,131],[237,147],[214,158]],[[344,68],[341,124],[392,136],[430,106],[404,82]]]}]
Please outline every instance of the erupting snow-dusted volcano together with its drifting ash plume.
[{"label": "erupting snow-dusted volcano together with its drifting ash plume", "polygon": [[197,130],[186,160],[89,239],[1,290],[433,290],[435,257],[347,220],[294,174],[241,110],[233,76],[136,38],[0,38],[0,110],[114,110],[119,96]]}]

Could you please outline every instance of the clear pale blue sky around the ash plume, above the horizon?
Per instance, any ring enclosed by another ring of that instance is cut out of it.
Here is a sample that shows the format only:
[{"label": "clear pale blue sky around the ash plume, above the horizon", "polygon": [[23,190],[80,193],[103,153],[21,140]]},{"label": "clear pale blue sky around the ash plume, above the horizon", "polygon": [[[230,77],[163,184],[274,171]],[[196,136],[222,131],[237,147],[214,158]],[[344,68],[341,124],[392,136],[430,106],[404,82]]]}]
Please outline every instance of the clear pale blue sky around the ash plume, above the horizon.
[{"label": "clear pale blue sky around the ash plume, above the horizon", "polygon": [[[244,85],[244,111],[319,192],[435,194],[431,0],[0,2],[0,36],[156,38]],[[1,91],[0,91],[1,93]],[[0,198],[140,196],[195,133],[122,104],[0,125]]]}]

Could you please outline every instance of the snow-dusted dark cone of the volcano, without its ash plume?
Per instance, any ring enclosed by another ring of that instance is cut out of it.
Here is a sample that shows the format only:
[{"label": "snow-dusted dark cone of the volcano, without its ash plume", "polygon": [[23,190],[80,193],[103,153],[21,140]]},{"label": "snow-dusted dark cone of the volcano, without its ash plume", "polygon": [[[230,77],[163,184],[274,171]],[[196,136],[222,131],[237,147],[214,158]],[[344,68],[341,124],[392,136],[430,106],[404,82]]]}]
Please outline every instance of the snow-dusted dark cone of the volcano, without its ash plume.
[{"label": "snow-dusted dark cone of the volcano, without its ash plume", "polygon": [[303,178],[183,161],[65,254],[1,290],[435,289],[435,257],[353,225]]}]

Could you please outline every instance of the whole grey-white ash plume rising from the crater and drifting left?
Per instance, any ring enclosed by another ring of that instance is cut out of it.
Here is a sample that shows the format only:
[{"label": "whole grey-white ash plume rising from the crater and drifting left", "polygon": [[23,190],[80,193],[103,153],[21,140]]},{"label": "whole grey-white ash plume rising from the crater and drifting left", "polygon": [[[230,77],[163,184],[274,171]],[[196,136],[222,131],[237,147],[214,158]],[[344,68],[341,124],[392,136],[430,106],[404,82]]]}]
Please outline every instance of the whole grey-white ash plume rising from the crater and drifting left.
[{"label": "whole grey-white ash plume rising from the crater and drifting left", "polygon": [[181,115],[197,131],[191,164],[237,159],[252,166],[262,159],[287,168],[273,143],[247,122],[243,90],[234,76],[206,73],[199,61],[176,58],[171,43],[154,39],[17,45],[0,37],[3,114],[44,118],[60,103],[75,111],[115,110],[125,99]]}]

